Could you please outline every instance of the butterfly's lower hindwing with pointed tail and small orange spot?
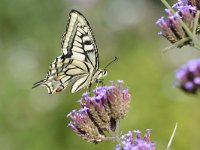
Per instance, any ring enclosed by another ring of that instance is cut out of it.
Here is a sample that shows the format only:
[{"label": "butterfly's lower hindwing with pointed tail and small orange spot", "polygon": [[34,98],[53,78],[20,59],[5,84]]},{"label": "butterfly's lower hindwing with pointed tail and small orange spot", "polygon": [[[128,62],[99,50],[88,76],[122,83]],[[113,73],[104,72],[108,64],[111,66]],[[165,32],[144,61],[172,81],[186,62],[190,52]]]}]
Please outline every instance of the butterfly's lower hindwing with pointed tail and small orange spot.
[{"label": "butterfly's lower hindwing with pointed tail and small orange spot", "polygon": [[48,93],[52,94],[60,92],[72,84],[71,92],[77,92],[89,85],[92,75],[90,73],[92,71],[91,68],[92,66],[87,62],[74,59],[65,59],[63,61],[59,56],[50,65],[46,78],[35,83],[33,88],[46,86]]}]

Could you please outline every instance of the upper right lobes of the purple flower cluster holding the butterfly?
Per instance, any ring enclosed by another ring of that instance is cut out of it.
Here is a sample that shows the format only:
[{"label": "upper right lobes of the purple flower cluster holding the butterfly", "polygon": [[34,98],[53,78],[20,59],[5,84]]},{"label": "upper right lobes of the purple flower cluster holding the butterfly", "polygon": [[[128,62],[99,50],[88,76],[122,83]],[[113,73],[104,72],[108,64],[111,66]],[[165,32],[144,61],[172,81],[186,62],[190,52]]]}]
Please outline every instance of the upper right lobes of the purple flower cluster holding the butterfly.
[{"label": "upper right lobes of the purple flower cluster holding the butterfly", "polygon": [[131,95],[128,88],[122,88],[122,81],[116,85],[99,86],[94,89],[93,96],[83,94],[82,107],[88,108],[88,113],[101,130],[111,128],[117,119],[123,118],[130,106]]}]

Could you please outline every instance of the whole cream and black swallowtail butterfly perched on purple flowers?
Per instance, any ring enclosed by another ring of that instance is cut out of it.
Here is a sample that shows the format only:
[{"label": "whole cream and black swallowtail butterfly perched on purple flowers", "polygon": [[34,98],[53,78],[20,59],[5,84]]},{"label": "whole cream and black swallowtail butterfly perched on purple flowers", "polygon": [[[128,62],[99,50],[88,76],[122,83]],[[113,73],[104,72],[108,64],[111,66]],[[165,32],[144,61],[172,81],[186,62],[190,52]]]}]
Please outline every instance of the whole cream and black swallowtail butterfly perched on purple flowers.
[{"label": "whole cream and black swallowtail butterfly perched on purple flowers", "polygon": [[74,93],[107,75],[106,68],[99,69],[99,54],[92,29],[77,10],[71,10],[69,14],[61,48],[63,53],[50,64],[46,78],[33,84],[33,88],[46,86],[48,93],[52,94],[71,85]]}]

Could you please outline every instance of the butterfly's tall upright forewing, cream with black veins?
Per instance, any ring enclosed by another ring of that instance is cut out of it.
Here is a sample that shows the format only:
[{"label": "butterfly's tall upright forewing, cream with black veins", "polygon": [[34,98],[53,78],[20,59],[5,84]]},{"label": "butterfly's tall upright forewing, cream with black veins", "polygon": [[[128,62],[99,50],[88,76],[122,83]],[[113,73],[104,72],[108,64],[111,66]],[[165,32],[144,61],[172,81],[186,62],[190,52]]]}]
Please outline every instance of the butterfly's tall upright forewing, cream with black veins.
[{"label": "butterfly's tall upright forewing, cream with black veins", "polygon": [[85,61],[92,65],[94,71],[98,70],[98,49],[88,21],[76,10],[70,12],[69,18],[66,33],[61,42],[62,57]]}]

